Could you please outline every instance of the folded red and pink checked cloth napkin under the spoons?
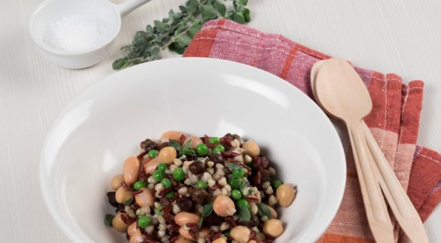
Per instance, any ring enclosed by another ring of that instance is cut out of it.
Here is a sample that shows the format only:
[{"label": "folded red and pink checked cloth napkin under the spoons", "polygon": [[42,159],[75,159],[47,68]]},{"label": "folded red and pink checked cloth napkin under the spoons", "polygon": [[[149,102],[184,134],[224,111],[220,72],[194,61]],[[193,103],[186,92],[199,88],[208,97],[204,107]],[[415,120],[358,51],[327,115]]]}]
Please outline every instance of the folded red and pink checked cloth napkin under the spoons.
[{"label": "folded red and pink checked cloth napkin under the spoons", "polygon": [[[226,59],[261,68],[285,79],[311,99],[312,65],[329,58],[281,35],[226,20],[205,23],[184,56]],[[416,145],[424,84],[415,80],[406,85],[395,74],[355,69],[372,97],[373,108],[365,122],[424,221],[441,200],[441,154]],[[340,135],[346,149],[346,189],[334,221],[317,242],[374,242],[349,140],[344,132]],[[406,236],[399,232],[396,222],[393,224],[395,241],[405,242]]]}]

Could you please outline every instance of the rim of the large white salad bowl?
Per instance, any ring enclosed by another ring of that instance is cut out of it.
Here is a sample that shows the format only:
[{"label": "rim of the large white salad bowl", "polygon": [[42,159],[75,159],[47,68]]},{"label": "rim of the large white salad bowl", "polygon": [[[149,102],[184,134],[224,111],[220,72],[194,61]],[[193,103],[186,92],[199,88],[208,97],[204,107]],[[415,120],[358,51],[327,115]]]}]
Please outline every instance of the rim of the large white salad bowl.
[{"label": "rim of the large white salad bowl", "polygon": [[[50,1],[53,1],[53,0],[50,0]],[[243,64],[243,63],[238,63],[238,62],[233,62],[233,61],[223,60],[223,59],[203,58],[203,57],[166,58],[166,59],[155,60],[154,62],[155,63],[159,63],[159,62],[187,62],[187,60],[196,60],[196,62],[199,62],[200,65],[204,65],[204,64],[209,63],[209,62],[212,62],[214,64],[218,64],[218,62],[220,62],[222,64],[224,62],[224,63],[230,64],[230,65],[233,64],[233,65],[241,66],[241,68],[244,68],[244,69],[248,68],[250,70],[253,70],[254,72],[261,72],[264,75],[271,75],[271,76],[275,77],[275,79],[278,79],[277,81],[274,80],[274,82],[281,82],[281,83],[283,83],[283,85],[285,85],[287,89],[292,89],[293,92],[296,92],[296,93],[298,93],[298,95],[304,96],[305,98],[307,98],[307,100],[308,100],[307,102],[313,102],[314,103],[314,101],[310,97],[308,97],[302,91],[297,89],[295,86],[289,84],[286,80],[284,80],[284,79],[282,79],[282,78],[280,78],[280,77],[278,77],[278,76],[276,76],[276,75],[274,75],[274,74],[272,74],[270,72],[267,72],[265,70],[262,70],[262,69],[259,69],[259,68],[256,68],[256,67],[253,67],[253,66],[250,66],[250,65],[246,65],[246,64]],[[135,65],[135,66],[132,66],[132,67],[129,67],[129,68],[125,68],[124,70],[118,71],[118,73],[129,72],[129,71],[131,71],[133,69],[136,69],[136,68],[142,68],[142,66],[150,65],[150,63],[152,63],[152,62],[142,63],[142,64],[138,64],[138,65]],[[199,68],[200,68],[200,66],[199,66]],[[83,235],[77,234],[75,231],[70,229],[67,226],[66,223],[64,223],[64,220],[60,216],[56,215],[55,212],[50,210],[51,209],[51,205],[53,204],[53,202],[51,201],[51,199],[49,197],[49,192],[47,191],[47,189],[45,187],[45,184],[44,184],[45,183],[44,182],[45,151],[47,149],[47,143],[48,143],[49,138],[51,137],[54,129],[57,127],[57,125],[59,123],[59,120],[62,118],[62,116],[64,115],[64,113],[67,110],[67,108],[79,96],[81,96],[84,92],[86,92],[87,90],[91,89],[92,87],[100,85],[101,83],[105,82],[105,79],[107,79],[109,76],[112,76],[112,75],[114,75],[116,73],[117,72],[112,73],[111,75],[107,75],[107,76],[101,78],[100,80],[98,80],[97,82],[95,82],[94,84],[90,85],[89,87],[84,89],[82,92],[77,94],[75,97],[73,97],[63,107],[63,109],[59,112],[59,114],[57,115],[57,117],[53,121],[53,123],[52,123],[52,125],[51,125],[51,127],[50,127],[50,129],[49,129],[49,131],[48,131],[48,133],[46,135],[46,137],[45,137],[45,141],[43,143],[43,146],[41,148],[40,161],[39,161],[39,163],[40,163],[40,165],[39,165],[39,184],[40,184],[40,192],[42,194],[43,201],[44,201],[45,206],[46,206],[47,210],[49,211],[51,217],[55,220],[55,222],[58,225],[58,227],[68,236],[68,238],[70,240],[72,240],[74,242],[83,242],[82,239],[84,239],[84,238],[87,238],[91,242],[95,242],[95,241],[92,240],[87,234],[83,234]],[[323,115],[325,117],[327,117],[326,114],[318,106],[316,106],[316,107],[317,107],[317,109],[321,113],[323,113]],[[338,153],[340,158],[341,158],[339,160],[342,160],[342,165],[341,165],[342,168],[340,168],[341,171],[342,171],[342,176],[339,177],[340,179],[337,182],[338,184],[340,184],[340,187],[339,187],[340,191],[339,191],[339,195],[338,195],[338,200],[335,202],[336,204],[335,204],[334,209],[332,211],[331,217],[329,217],[326,220],[326,222],[322,225],[322,228],[319,231],[320,233],[314,237],[314,242],[317,241],[323,235],[325,230],[328,228],[330,223],[335,218],[335,216],[336,216],[336,214],[337,214],[337,212],[338,212],[338,210],[340,208],[340,205],[342,203],[342,199],[343,199],[343,195],[344,195],[344,191],[345,191],[345,187],[346,187],[346,157],[345,157],[345,152],[344,152],[344,149],[343,149],[343,144],[342,144],[341,139],[340,139],[340,137],[339,137],[339,135],[337,133],[337,130],[335,129],[334,125],[331,123],[330,119],[327,119],[324,122],[328,123],[329,126],[332,128],[332,129],[330,129],[331,130],[330,133],[332,133],[330,136],[334,137],[334,139],[336,141],[339,141],[337,146],[340,147],[340,149],[339,149],[338,152],[336,151],[336,154]]]}]

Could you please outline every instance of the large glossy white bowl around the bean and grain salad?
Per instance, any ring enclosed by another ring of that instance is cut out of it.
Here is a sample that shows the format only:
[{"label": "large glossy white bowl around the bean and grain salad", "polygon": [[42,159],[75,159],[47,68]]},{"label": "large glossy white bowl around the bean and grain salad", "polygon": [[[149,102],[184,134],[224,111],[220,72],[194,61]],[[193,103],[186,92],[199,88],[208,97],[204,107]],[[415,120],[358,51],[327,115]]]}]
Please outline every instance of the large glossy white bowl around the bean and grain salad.
[{"label": "large glossy white bowl around the bean and grain salad", "polygon": [[[173,70],[173,71],[170,71]],[[257,141],[284,182],[298,186],[281,209],[276,242],[313,242],[335,216],[346,176],[341,142],[326,115],[284,80],[247,65],[208,58],[140,64],[73,99],[47,135],[40,164],[45,203],[75,242],[124,242],[106,228],[105,193],[139,142],[167,130]]]}]

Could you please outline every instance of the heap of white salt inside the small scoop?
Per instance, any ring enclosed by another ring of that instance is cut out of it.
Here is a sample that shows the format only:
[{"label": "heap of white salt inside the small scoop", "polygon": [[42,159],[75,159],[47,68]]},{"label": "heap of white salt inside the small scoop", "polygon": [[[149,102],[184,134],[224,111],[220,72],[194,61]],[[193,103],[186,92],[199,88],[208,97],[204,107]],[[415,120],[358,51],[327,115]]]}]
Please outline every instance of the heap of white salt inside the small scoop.
[{"label": "heap of white salt inside the small scoop", "polygon": [[43,42],[63,51],[81,51],[104,43],[111,35],[108,24],[93,14],[72,14],[51,23]]}]

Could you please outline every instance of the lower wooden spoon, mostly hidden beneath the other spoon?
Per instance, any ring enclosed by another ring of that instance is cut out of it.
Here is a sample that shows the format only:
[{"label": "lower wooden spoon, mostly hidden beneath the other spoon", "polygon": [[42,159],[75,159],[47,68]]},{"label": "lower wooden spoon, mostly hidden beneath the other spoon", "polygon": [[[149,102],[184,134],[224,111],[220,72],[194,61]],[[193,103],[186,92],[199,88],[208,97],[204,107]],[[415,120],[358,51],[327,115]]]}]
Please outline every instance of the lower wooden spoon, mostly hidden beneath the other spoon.
[{"label": "lower wooden spoon, mostly hidden beneath the other spoon", "polygon": [[[320,100],[317,99],[315,94],[315,79],[318,70],[320,69],[324,61],[325,60],[321,60],[315,63],[311,69],[311,89],[317,103],[320,106]],[[383,152],[378,146],[377,141],[372,135],[371,130],[364,123],[364,120],[362,120],[361,126],[363,129],[364,137],[366,139],[366,143],[373,156],[373,169],[377,174],[380,187],[383,190],[386,200],[389,203],[389,206],[395,218],[397,219],[398,224],[401,226],[402,230],[412,242],[428,243],[429,240],[424,230],[423,223],[420,216],[418,215],[418,212],[413,206],[412,201],[410,200],[404,188],[402,188],[400,182],[398,181],[398,178],[396,177],[392,168],[389,166],[386,157],[384,156]],[[369,157],[372,158],[372,156]]]}]

